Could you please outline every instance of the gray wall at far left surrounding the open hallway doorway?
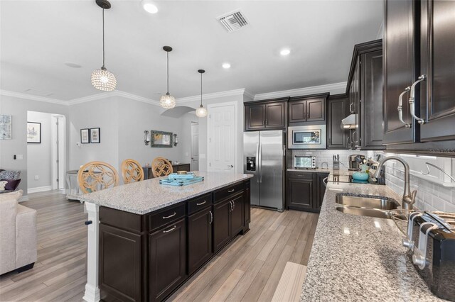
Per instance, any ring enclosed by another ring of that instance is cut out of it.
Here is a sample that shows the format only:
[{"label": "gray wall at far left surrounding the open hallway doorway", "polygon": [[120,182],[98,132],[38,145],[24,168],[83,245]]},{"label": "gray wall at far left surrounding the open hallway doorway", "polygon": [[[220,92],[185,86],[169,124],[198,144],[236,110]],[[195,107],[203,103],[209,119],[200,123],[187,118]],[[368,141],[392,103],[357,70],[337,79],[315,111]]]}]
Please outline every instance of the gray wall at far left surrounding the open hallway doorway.
[{"label": "gray wall at far left surrounding the open hallway doorway", "polygon": [[[13,139],[0,140],[0,167],[1,169],[14,169],[21,171],[21,184],[18,189],[23,189],[24,196],[27,195],[28,173],[27,173],[27,111],[38,111],[45,113],[55,113],[66,116],[68,127],[68,106],[60,104],[46,103],[19,99],[14,96],[0,95],[0,113],[13,116]],[[68,136],[68,131],[67,131]],[[67,152],[68,158],[68,148]],[[14,160],[13,155],[23,155],[23,160]]]}]

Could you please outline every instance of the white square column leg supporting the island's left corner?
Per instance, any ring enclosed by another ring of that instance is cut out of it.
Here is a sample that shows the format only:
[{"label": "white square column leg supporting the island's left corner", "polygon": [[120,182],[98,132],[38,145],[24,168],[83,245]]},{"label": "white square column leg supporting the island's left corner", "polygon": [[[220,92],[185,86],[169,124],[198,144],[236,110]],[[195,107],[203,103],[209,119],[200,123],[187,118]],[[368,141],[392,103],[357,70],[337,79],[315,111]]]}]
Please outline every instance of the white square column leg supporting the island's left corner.
[{"label": "white square column leg supporting the island's left corner", "polygon": [[100,289],[98,288],[98,250],[100,220],[98,211],[100,206],[95,203],[84,203],[88,213],[88,220],[92,224],[87,226],[87,284],[83,299],[87,302],[100,301]]}]

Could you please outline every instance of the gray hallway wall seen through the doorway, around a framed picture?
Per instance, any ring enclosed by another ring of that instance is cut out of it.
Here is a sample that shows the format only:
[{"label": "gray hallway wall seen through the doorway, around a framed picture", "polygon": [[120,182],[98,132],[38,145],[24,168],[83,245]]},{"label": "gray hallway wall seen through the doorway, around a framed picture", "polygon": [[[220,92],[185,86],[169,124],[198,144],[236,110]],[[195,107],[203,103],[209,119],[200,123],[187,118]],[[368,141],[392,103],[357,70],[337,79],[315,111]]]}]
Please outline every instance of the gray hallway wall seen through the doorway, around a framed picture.
[{"label": "gray hallway wall seen through the doorway, around a framed picture", "polygon": [[[41,123],[41,144],[27,144],[27,189],[51,186],[51,129],[52,115],[28,111],[28,121]],[[38,175],[38,180],[35,176]]]}]

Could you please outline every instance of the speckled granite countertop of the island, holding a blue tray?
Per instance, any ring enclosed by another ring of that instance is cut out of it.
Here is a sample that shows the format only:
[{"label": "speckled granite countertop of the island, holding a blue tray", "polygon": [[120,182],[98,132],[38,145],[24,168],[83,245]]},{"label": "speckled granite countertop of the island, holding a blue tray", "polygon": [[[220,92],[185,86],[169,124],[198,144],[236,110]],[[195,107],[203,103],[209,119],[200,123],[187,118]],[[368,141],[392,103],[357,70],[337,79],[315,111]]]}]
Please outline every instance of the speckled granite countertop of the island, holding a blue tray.
[{"label": "speckled granite countertop of the island, holding a blue tray", "polygon": [[84,194],[81,201],[129,213],[146,214],[252,177],[249,174],[223,172],[196,171],[195,174],[204,177],[204,180],[188,186],[165,186],[159,184],[159,178],[147,179]]}]

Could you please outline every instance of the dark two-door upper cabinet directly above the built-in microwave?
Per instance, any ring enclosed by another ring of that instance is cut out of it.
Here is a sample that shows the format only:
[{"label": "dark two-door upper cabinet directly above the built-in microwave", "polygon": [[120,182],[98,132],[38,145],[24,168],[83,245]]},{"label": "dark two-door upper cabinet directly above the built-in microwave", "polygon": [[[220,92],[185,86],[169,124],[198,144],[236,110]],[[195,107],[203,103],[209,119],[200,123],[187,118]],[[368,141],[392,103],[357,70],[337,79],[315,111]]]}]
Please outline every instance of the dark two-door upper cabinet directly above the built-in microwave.
[{"label": "dark two-door upper cabinet directly above the built-in microwave", "polygon": [[328,94],[314,94],[289,99],[289,125],[314,125],[326,121],[327,98]]}]

